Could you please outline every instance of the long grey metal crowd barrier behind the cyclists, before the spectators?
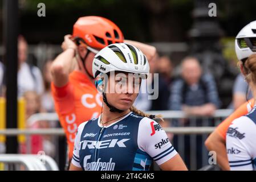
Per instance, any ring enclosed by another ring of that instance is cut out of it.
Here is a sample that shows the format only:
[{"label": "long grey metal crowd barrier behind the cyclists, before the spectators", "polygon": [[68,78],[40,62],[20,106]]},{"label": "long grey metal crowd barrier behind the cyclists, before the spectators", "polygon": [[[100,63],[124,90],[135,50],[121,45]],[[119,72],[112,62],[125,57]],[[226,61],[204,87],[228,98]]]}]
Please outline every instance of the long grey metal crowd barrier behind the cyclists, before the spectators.
[{"label": "long grey metal crowd barrier behind the cyclists, before the spectators", "polygon": [[[215,127],[223,121],[233,110],[216,110],[212,117],[188,116],[183,111],[145,111],[150,114],[161,114],[165,122],[161,122],[170,142],[176,148],[181,158],[185,161],[190,170],[200,169],[207,166],[208,151],[204,146],[204,141]],[[34,114],[27,119],[28,125],[36,122],[58,121],[56,113]],[[21,135],[24,134],[29,139],[30,135],[51,135],[52,137],[64,136],[63,129],[6,129],[0,130],[0,135]],[[27,145],[31,148],[30,143]],[[58,145],[55,145],[58,150]],[[30,150],[28,150],[30,151]],[[58,154],[58,152],[56,152]]]}]

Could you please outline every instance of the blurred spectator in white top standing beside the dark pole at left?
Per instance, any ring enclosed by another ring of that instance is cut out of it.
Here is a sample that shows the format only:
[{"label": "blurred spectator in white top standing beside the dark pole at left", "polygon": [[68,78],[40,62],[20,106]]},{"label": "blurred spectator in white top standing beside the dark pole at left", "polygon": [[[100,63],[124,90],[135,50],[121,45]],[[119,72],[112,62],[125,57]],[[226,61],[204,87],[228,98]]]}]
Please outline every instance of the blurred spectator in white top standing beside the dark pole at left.
[{"label": "blurred spectator in white top standing beside the dark pole at left", "polygon": [[18,97],[26,91],[43,93],[43,78],[40,70],[27,61],[28,45],[23,36],[18,38]]}]

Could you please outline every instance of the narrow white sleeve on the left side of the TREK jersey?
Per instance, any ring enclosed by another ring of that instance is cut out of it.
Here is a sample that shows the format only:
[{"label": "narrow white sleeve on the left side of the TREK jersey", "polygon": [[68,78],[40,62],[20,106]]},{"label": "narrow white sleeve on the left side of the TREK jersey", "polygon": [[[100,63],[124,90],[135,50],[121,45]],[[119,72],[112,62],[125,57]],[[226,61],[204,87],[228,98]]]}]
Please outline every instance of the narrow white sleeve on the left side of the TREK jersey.
[{"label": "narrow white sleeve on the left side of the TREK jersey", "polygon": [[74,151],[73,151],[73,157],[71,160],[71,163],[74,164],[76,167],[81,167],[80,166],[80,158],[79,158],[79,151],[80,151],[80,139],[81,135],[84,129],[84,126],[86,125],[87,122],[83,122],[79,125],[78,127],[78,132],[76,133],[76,138],[74,142]]}]

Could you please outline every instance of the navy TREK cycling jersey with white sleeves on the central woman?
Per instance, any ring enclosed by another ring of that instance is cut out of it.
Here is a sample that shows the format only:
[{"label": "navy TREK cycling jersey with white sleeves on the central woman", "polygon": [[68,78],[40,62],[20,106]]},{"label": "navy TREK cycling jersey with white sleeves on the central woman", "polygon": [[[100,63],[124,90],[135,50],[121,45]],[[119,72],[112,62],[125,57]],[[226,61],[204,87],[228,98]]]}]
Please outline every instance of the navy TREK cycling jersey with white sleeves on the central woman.
[{"label": "navy TREK cycling jersey with white sleeves on the central woman", "polygon": [[78,127],[72,164],[90,171],[149,170],[177,154],[156,121],[133,112],[107,127],[100,118]]}]

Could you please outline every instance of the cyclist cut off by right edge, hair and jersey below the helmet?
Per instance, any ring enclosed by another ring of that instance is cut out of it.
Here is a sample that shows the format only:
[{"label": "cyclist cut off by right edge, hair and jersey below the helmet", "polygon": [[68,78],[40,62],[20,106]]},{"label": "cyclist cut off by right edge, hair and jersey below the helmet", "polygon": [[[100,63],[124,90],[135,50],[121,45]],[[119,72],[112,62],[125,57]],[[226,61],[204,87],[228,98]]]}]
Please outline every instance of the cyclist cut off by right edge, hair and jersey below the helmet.
[{"label": "cyclist cut off by right edge, hair and jersey below the helmet", "polygon": [[[256,48],[256,45],[254,46]],[[240,70],[256,98],[256,54],[241,61]],[[256,169],[256,105],[250,113],[235,119],[226,134],[226,151],[231,170]]]}]

